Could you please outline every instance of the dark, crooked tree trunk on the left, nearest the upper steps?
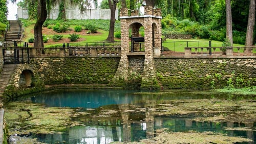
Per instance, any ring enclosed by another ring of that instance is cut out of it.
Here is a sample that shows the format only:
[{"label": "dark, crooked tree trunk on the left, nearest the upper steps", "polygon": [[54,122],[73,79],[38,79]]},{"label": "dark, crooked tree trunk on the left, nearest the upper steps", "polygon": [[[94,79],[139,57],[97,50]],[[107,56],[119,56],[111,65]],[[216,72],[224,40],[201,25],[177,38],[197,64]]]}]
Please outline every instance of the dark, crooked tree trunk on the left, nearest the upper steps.
[{"label": "dark, crooked tree trunk on the left, nearest the upper steps", "polygon": [[42,25],[47,18],[46,0],[37,1],[37,20],[34,26],[34,48],[37,52],[44,47],[44,41],[42,40]]}]

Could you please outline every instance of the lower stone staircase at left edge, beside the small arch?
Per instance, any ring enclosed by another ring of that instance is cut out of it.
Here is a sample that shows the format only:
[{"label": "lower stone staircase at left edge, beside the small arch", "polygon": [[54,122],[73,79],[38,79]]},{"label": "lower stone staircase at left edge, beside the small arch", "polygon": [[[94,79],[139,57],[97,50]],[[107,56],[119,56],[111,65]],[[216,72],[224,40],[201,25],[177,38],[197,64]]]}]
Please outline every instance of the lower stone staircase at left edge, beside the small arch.
[{"label": "lower stone staircase at left edge, beside the small arch", "polygon": [[0,96],[4,93],[6,86],[10,81],[10,77],[15,69],[15,64],[4,65],[3,71],[0,75]]}]

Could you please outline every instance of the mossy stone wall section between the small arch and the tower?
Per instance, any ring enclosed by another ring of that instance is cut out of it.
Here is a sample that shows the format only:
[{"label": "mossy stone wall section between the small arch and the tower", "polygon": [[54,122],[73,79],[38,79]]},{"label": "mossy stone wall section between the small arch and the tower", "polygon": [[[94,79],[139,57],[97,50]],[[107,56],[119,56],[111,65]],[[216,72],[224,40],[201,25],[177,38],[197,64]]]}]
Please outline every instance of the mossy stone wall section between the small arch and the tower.
[{"label": "mossy stone wall section between the small arch and the tower", "polygon": [[30,64],[45,85],[108,84],[120,58],[36,58]]}]

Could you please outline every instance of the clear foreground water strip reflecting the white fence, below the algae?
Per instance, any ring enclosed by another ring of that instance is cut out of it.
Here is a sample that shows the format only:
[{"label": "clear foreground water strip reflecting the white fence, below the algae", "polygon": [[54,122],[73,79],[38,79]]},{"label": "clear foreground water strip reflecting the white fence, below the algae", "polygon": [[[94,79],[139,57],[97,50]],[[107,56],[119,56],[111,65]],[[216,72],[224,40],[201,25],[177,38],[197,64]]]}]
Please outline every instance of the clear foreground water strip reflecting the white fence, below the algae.
[{"label": "clear foreground water strip reflecting the white fence, below the algae", "polygon": [[[113,120],[113,119],[112,119]],[[97,121],[97,119],[95,119]],[[108,121],[106,119],[105,121]],[[95,123],[89,121],[88,123]],[[101,124],[99,124],[101,125]],[[173,132],[216,132],[229,136],[241,136],[252,139],[256,138],[256,132],[253,131],[254,124],[236,123],[212,123],[212,122],[195,122],[190,118],[173,118],[173,117],[155,117],[154,122],[129,121],[126,124],[119,125],[117,123],[108,122],[105,126],[76,126],[69,128],[61,134],[38,134],[33,135],[38,141],[45,143],[111,143],[113,141],[138,141],[143,138],[154,137],[154,131],[166,128]],[[226,130],[226,128],[247,127],[247,131]],[[253,143],[253,142],[251,142]]]}]

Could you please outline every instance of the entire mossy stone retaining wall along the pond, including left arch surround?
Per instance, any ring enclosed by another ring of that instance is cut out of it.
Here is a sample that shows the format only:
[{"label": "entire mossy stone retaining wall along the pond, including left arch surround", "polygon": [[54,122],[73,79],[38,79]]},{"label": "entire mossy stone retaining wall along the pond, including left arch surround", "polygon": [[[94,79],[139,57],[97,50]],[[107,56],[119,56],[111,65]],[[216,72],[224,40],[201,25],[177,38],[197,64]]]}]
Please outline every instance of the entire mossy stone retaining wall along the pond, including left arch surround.
[{"label": "entire mossy stone retaining wall along the pond, including left arch surround", "polygon": [[[11,78],[18,87],[23,70],[30,70],[45,85],[109,84],[120,58],[34,58],[20,65]],[[156,75],[163,89],[211,89],[256,85],[253,58],[154,58]],[[140,86],[144,57],[129,58],[128,85]],[[120,87],[120,85],[119,85]],[[132,86],[133,87],[133,86]],[[131,87],[131,88],[132,88]],[[134,87],[133,87],[134,88]]]}]

